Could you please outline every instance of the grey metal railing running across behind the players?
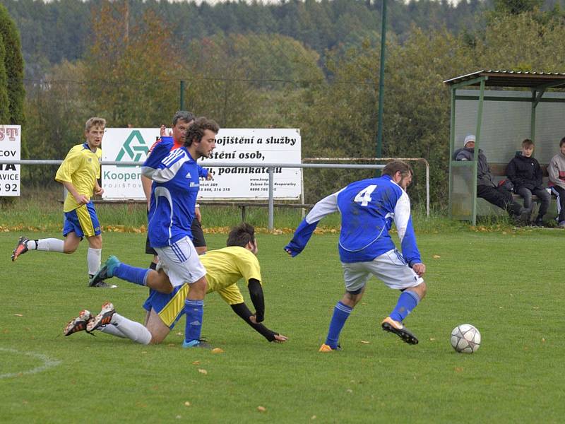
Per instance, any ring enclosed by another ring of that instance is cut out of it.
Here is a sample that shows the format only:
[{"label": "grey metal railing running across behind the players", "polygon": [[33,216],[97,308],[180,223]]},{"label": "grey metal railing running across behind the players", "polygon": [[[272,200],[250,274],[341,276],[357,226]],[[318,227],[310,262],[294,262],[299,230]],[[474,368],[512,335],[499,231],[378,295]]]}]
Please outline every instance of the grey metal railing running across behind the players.
[{"label": "grey metal railing running across behind the players", "polygon": [[[335,158],[331,158],[335,160]],[[379,158],[379,160],[384,160]],[[0,160],[0,164],[13,164],[13,165],[60,165],[62,160]],[[102,165],[121,165],[121,166],[141,166],[143,162],[118,162],[115,160],[102,160]],[[426,163],[427,165],[427,163]],[[333,169],[356,169],[356,170],[381,170],[385,165],[372,165],[372,164],[343,164],[343,163],[237,163],[237,162],[215,162],[206,163],[206,167],[266,167],[268,168],[269,176],[269,189],[268,189],[268,230],[274,229],[275,222],[275,198],[274,198],[274,181],[275,181],[275,168],[333,168]],[[428,167],[426,168],[428,170]],[[428,175],[428,172],[427,172]],[[429,187],[429,178],[426,177],[427,188]],[[429,214],[429,192],[427,191],[427,211]]]}]

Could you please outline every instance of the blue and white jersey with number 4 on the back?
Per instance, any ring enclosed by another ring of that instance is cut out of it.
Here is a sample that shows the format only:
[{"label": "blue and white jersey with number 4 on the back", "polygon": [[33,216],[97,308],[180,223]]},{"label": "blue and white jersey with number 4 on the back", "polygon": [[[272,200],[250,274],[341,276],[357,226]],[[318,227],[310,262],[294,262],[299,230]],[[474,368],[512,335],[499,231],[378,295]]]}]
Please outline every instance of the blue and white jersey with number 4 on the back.
[{"label": "blue and white jersey with number 4 on the back", "polygon": [[342,262],[372,261],[395,249],[388,234],[393,222],[405,261],[410,266],[422,262],[410,217],[410,199],[388,175],[352,182],[314,205],[286,247],[293,257],[306,247],[321,218],[336,211],[341,213],[338,249]]}]

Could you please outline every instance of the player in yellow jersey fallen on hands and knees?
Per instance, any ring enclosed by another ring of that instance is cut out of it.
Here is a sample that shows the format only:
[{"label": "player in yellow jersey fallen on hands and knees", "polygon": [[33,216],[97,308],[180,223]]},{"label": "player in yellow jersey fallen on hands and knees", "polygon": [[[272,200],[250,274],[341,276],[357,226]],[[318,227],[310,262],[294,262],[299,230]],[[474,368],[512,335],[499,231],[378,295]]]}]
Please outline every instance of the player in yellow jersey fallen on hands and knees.
[{"label": "player in yellow jersey fallen on hands and knees", "polygon": [[[223,300],[232,307],[239,317],[258,331],[268,341],[284,342],[287,338],[261,324],[265,317],[265,302],[261,286],[261,267],[257,260],[257,241],[254,228],[246,223],[237,225],[227,237],[227,247],[208,251],[201,257],[206,267],[208,293],[218,292]],[[245,305],[237,281],[243,278],[249,289],[255,314],[251,314]],[[100,314],[93,317],[88,310],[81,311],[64,329],[64,335],[70,336],[77,331],[100,330],[118,337],[130,338],[141,344],[161,343],[173,329],[174,324],[184,314],[184,301],[191,288],[183,284],[174,288],[172,293],[159,293],[150,290],[143,308],[147,311],[145,326],[117,314],[112,303],[102,305]]]}]

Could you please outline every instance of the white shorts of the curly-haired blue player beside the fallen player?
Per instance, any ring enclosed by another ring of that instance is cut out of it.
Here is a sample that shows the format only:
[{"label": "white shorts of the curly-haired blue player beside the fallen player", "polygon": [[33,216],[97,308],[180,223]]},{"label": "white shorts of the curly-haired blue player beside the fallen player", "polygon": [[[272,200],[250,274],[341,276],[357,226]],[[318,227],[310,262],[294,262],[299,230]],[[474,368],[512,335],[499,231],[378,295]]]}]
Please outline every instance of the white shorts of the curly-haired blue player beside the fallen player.
[{"label": "white shorts of the curly-haired blue player beside the fallen player", "polygon": [[206,276],[206,268],[189,237],[182,238],[172,246],[155,247],[155,252],[159,255],[157,270],[165,271],[173,287],[192,284]]}]

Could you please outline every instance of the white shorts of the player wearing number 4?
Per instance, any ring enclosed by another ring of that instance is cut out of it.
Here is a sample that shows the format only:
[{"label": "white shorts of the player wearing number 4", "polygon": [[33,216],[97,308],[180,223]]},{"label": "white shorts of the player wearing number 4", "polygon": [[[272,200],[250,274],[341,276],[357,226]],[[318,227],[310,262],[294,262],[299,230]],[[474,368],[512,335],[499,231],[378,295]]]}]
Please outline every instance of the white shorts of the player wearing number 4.
[{"label": "white shorts of the player wearing number 4", "polygon": [[412,271],[397,249],[389,250],[369,262],[353,262],[343,266],[345,290],[355,292],[364,288],[371,276],[376,276],[390,288],[403,290],[424,282]]}]

